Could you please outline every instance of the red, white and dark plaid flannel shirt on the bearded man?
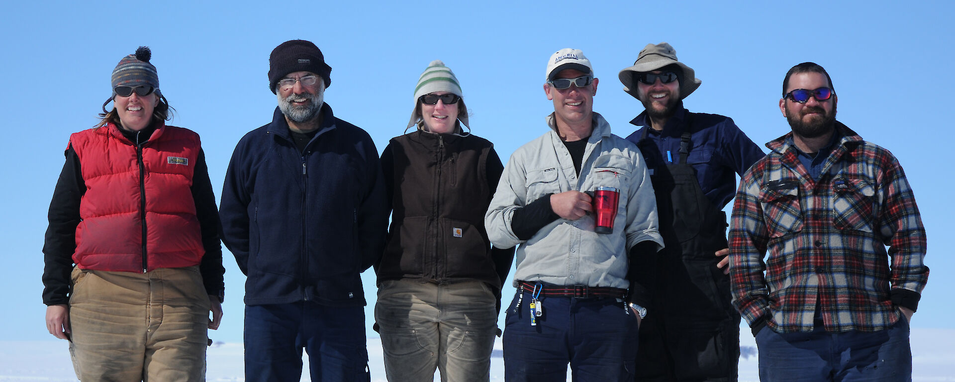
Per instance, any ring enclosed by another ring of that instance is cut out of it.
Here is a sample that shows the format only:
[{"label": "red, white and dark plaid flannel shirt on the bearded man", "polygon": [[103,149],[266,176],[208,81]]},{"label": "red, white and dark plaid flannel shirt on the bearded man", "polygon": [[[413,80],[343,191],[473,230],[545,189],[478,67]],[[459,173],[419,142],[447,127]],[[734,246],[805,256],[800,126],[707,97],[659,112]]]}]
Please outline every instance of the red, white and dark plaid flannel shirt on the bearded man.
[{"label": "red, white and dark plaid flannel shirt on the bearded man", "polygon": [[899,320],[897,306],[918,308],[928,279],[925,230],[902,166],[836,123],[842,138],[818,180],[797,159],[790,133],[767,143],[772,152],[740,181],[732,304],[751,326],[811,331],[818,304],[827,331],[875,331]]}]

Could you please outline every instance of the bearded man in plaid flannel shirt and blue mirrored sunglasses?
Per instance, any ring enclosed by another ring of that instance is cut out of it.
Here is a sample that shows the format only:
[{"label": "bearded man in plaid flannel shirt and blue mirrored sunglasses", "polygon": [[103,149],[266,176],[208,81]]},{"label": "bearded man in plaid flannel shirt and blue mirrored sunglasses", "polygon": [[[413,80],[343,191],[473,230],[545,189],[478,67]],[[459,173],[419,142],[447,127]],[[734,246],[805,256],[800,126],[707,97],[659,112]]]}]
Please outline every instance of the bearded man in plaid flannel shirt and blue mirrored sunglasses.
[{"label": "bearded man in plaid flannel shirt and blue mirrored sunglasses", "polygon": [[790,69],[779,110],[793,132],[766,144],[736,192],[732,303],[762,381],[911,380],[922,218],[902,165],[838,122],[837,102],[822,67]]}]

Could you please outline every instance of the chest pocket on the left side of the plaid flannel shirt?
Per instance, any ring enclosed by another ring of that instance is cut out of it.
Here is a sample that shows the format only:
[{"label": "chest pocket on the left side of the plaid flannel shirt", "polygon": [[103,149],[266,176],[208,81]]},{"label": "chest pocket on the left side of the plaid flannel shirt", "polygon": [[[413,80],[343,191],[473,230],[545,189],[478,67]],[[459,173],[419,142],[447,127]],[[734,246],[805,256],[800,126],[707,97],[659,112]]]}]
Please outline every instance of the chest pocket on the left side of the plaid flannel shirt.
[{"label": "chest pocket on the left side of the plaid flannel shirt", "polygon": [[[794,182],[779,187],[774,183]],[[799,190],[796,180],[774,180],[763,187],[759,202],[763,207],[763,222],[770,237],[779,238],[802,230],[802,208],[799,205]]]}]

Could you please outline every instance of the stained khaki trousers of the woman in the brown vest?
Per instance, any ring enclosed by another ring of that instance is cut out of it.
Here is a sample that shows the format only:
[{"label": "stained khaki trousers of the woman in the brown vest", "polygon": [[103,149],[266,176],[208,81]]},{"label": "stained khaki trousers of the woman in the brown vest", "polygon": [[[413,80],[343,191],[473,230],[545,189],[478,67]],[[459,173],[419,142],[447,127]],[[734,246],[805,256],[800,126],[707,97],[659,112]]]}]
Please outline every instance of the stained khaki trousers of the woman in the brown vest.
[{"label": "stained khaki trousers of the woman in the brown vest", "polygon": [[489,380],[496,305],[482,282],[382,282],[375,322],[388,380],[433,380],[435,369],[442,381]]}]

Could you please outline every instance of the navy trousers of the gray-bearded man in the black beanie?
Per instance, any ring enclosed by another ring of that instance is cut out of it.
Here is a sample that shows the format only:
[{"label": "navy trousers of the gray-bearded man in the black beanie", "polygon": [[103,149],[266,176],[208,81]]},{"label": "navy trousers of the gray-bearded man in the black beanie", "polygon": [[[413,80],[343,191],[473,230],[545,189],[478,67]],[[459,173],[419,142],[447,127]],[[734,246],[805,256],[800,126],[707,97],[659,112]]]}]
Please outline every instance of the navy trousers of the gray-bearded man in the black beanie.
[{"label": "navy trousers of the gray-bearded man in the black beanie", "polygon": [[245,380],[299,381],[302,350],[312,381],[368,381],[364,307],[312,302],[245,307]]}]

